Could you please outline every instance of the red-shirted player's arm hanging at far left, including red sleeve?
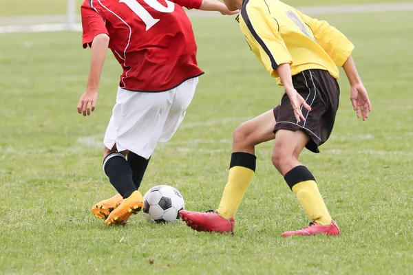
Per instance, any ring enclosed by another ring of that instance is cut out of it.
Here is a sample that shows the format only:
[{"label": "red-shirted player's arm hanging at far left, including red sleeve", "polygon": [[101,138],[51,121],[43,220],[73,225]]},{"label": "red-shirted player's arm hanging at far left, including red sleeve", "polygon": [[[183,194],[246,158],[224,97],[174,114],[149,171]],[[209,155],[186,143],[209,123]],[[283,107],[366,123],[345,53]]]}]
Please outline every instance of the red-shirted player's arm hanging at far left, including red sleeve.
[{"label": "red-shirted player's arm hanging at far left, including red sleeve", "polygon": [[81,8],[83,25],[83,47],[92,48],[89,68],[89,78],[86,90],[81,96],[77,110],[83,115],[94,111],[98,100],[98,87],[103,64],[105,63],[109,35],[105,27],[105,19],[85,1]]}]

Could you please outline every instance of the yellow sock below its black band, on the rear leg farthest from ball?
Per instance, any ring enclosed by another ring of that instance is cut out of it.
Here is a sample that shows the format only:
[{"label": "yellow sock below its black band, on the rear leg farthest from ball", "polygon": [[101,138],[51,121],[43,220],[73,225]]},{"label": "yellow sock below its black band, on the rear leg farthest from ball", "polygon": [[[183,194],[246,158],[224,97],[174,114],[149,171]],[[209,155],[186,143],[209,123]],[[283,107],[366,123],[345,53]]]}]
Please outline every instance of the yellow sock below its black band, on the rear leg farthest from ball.
[{"label": "yellow sock below its black band, on the rear leg farthest from ball", "polygon": [[314,180],[301,181],[292,189],[311,221],[317,221],[321,225],[331,223],[331,216]]}]

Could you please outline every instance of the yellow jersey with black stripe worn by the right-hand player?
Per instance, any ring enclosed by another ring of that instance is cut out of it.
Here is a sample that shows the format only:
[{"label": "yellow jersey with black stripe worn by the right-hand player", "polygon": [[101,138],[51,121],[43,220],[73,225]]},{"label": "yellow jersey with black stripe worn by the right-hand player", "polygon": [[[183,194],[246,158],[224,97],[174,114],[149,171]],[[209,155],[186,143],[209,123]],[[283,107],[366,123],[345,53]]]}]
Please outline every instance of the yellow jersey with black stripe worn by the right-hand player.
[{"label": "yellow jersey with black stripe worn by the right-hand player", "polygon": [[244,0],[240,28],[255,56],[273,78],[289,63],[294,76],[306,69],[324,69],[338,79],[339,69],[354,45],[326,21],[302,14],[278,0]]}]

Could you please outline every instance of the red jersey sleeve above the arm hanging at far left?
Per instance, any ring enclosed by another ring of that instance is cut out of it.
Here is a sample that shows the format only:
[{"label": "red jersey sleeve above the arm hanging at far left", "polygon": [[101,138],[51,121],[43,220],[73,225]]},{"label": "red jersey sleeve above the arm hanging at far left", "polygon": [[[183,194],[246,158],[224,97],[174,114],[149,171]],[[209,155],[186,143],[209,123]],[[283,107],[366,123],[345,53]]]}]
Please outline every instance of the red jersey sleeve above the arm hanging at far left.
[{"label": "red jersey sleeve above the arm hanging at far left", "polygon": [[82,28],[83,28],[83,48],[92,46],[92,41],[98,34],[107,34],[105,19],[94,10],[89,4],[89,0],[85,0],[81,6]]}]

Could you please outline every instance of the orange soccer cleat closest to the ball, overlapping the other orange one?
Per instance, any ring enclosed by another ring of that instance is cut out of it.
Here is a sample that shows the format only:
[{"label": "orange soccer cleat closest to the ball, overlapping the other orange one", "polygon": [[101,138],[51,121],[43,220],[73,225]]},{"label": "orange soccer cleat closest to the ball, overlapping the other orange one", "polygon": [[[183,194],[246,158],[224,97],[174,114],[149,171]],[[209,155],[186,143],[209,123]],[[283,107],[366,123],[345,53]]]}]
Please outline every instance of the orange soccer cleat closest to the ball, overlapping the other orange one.
[{"label": "orange soccer cleat closest to the ball, overlapping the other orange one", "polygon": [[131,214],[136,214],[143,207],[143,197],[139,191],[133,192],[129,197],[123,199],[120,206],[113,210],[107,217],[106,225],[126,225]]}]

